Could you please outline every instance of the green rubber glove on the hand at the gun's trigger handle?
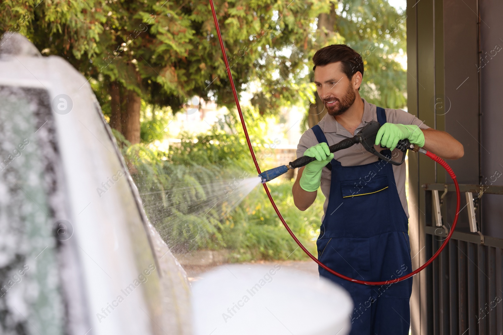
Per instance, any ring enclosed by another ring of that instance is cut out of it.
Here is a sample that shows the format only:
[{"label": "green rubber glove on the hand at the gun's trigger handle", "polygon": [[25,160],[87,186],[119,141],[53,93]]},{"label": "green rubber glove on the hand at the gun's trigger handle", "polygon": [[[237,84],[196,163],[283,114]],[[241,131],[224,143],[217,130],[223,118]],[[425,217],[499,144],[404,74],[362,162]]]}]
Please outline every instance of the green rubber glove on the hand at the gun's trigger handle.
[{"label": "green rubber glove on the hand at the gun's trigger handle", "polygon": [[425,145],[425,134],[416,125],[400,125],[385,123],[379,128],[376,136],[376,145],[393,150],[398,141],[408,139],[410,143],[417,144],[420,147]]}]

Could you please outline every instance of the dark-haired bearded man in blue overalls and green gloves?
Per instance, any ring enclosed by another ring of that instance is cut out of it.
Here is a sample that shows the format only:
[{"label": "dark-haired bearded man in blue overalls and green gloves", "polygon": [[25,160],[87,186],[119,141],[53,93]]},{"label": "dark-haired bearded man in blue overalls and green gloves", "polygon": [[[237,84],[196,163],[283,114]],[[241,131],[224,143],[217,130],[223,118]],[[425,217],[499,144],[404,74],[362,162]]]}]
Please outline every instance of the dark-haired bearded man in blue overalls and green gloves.
[{"label": "dark-haired bearded man in blue overalls and green gloves", "polygon": [[[396,279],[412,271],[405,164],[378,160],[361,144],[336,153],[328,146],[353,137],[372,120],[381,124],[376,149],[388,148],[382,151],[388,156],[402,139],[444,159],[463,157],[463,146],[403,110],[383,109],[361,98],[362,57],[347,45],[318,50],[313,63],[314,83],[327,114],[302,135],[297,147],[297,157],[316,160],[299,169],[292,189],[295,205],[306,210],[321,186],[326,200],[316,242],[320,262],[359,280]],[[350,334],[408,334],[412,278],[369,286],[318,270],[350,292],[355,305]]]}]

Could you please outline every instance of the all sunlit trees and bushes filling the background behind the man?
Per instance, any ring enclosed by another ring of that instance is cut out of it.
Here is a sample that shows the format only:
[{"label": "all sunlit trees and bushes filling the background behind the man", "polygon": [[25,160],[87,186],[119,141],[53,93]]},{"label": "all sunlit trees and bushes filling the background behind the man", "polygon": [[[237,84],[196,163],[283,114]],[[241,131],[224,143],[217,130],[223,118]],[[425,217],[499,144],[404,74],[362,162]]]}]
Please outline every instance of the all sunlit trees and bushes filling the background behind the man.
[{"label": "all sunlit trees and bushes filling the background behind the man", "polygon": [[[263,170],[273,167],[267,165],[274,163],[276,143],[288,137],[296,145],[295,138],[326,113],[312,84],[310,62],[323,46],[345,43],[360,52],[362,96],[405,109],[406,14],[397,4],[215,2]],[[28,37],[44,56],[63,57],[89,79],[147,215],[175,252],[226,249],[235,261],[306,257],[294,252],[297,246],[262,186],[239,204],[234,194],[222,195],[234,178],[257,172],[236,118],[206,0],[4,0],[0,26]],[[208,105],[218,110],[211,120],[203,113]],[[294,109],[300,117],[287,127],[285,115]],[[208,127],[196,127],[194,115]],[[300,211],[291,187],[288,179],[270,183],[286,221],[315,252],[324,197],[318,192],[314,205]]]}]

